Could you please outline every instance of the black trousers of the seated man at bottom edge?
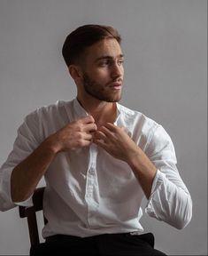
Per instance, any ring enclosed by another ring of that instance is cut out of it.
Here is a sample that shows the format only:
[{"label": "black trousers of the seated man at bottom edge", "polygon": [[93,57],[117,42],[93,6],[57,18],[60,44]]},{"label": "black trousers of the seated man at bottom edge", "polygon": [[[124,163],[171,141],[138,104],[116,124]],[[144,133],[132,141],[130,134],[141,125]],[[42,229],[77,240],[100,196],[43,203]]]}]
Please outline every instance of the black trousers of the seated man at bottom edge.
[{"label": "black trousers of the seated man at bottom edge", "polygon": [[46,238],[46,242],[32,246],[30,255],[100,255],[100,256],[138,256],[166,255],[154,249],[154,236],[106,234],[99,236],[77,237],[57,235]]}]

